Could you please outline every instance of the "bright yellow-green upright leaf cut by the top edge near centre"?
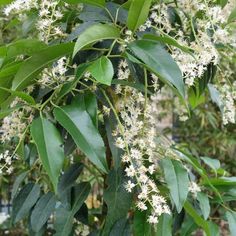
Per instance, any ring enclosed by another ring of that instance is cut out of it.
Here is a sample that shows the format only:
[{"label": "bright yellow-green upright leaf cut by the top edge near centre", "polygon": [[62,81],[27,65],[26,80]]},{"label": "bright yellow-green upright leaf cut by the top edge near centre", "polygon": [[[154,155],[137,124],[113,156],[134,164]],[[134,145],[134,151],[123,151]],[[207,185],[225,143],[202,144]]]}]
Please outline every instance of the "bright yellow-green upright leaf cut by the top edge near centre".
[{"label": "bright yellow-green upright leaf cut by the top edge near centre", "polygon": [[151,2],[151,0],[132,0],[127,20],[127,26],[130,30],[136,31],[140,25],[145,23]]}]

